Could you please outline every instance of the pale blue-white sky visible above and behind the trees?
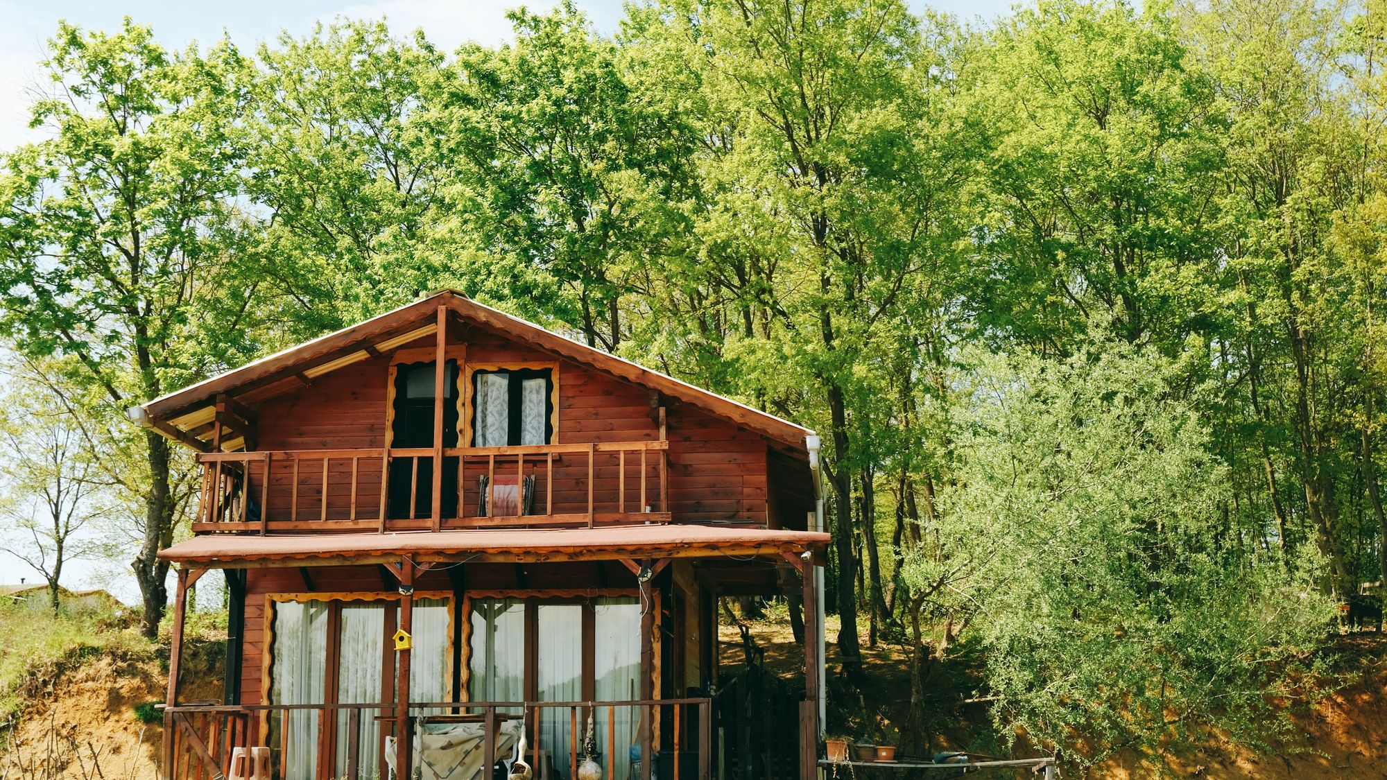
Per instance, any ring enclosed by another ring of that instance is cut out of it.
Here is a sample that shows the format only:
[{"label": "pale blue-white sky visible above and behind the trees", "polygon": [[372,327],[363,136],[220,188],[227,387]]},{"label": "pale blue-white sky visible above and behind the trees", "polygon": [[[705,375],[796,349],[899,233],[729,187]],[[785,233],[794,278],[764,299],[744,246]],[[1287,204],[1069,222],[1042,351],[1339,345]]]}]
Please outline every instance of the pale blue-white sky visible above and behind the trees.
[{"label": "pale blue-white sky visible above and behind the trees", "polygon": [[[964,19],[992,19],[1019,0],[907,0],[915,12],[928,4]],[[28,128],[28,110],[35,87],[42,85],[37,62],[44,42],[67,21],[87,29],[115,29],[122,17],[154,28],[165,46],[182,49],[191,40],[208,44],[223,31],[243,50],[276,37],[280,31],[307,35],[313,24],[336,17],[379,19],[405,35],[422,28],[429,39],[447,51],[466,42],[498,44],[510,37],[508,8],[527,4],[533,10],[553,7],[552,0],[232,0],[198,3],[189,0],[0,0],[0,151],[36,140]],[[596,29],[614,33],[621,19],[621,0],[576,0]],[[11,555],[0,554],[0,584],[42,582]],[[126,602],[139,593],[135,580],[119,563],[75,561],[64,573],[72,588],[105,587]]]}]

